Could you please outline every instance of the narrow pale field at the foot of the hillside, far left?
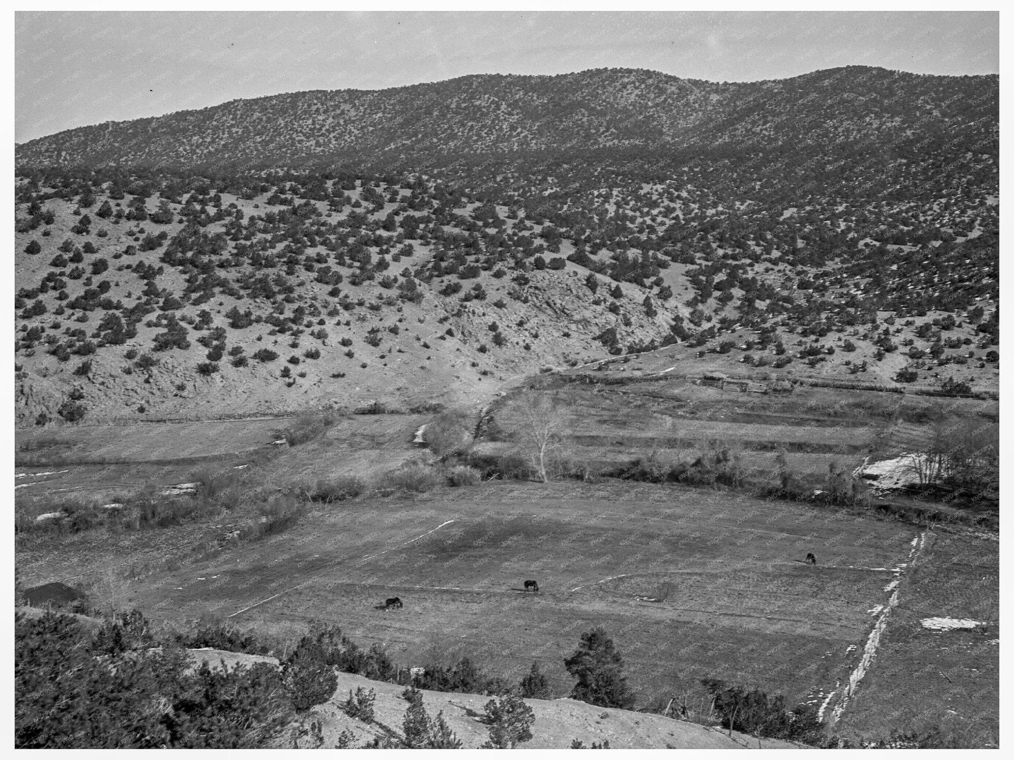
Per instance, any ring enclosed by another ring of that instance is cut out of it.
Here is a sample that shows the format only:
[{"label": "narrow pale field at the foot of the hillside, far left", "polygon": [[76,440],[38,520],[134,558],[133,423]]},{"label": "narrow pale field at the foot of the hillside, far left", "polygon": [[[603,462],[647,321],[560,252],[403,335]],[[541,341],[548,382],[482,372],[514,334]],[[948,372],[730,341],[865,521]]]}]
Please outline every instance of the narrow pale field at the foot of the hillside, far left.
[{"label": "narrow pale field at the foot of the hillside, far left", "polygon": [[271,446],[295,417],[57,428],[21,431],[17,445],[38,464],[15,468],[15,509],[29,518],[66,500],[108,504],[145,490],[196,480],[201,472],[261,466],[281,482],[393,469],[418,455],[412,440],[429,417],[350,414],[311,444]]}]

